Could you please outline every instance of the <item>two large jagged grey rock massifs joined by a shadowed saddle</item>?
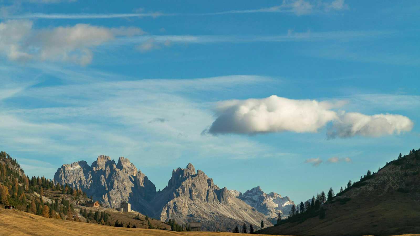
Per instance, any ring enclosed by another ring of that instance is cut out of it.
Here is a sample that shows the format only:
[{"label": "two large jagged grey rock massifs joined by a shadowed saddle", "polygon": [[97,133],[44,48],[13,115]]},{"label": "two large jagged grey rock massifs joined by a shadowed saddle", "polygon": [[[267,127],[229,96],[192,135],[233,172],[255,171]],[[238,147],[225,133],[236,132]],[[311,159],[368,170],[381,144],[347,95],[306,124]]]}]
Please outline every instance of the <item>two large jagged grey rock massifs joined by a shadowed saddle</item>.
[{"label": "two large jagged grey rock massifs joined by a shadowed saddle", "polygon": [[[260,212],[258,204],[249,205],[239,194],[219,188],[191,163],[173,170],[168,185],[160,191],[124,157],[117,164],[108,156],[99,156],[91,166],[86,161],[65,164],[58,168],[54,180],[82,189],[105,207],[119,207],[122,201],[128,201],[133,210],[144,215],[163,221],[174,219],[179,224],[199,221],[207,231],[232,231],[243,223],[252,223],[259,229],[261,220],[265,226],[272,225],[268,220],[270,214]],[[266,201],[268,205],[270,201]]]}]

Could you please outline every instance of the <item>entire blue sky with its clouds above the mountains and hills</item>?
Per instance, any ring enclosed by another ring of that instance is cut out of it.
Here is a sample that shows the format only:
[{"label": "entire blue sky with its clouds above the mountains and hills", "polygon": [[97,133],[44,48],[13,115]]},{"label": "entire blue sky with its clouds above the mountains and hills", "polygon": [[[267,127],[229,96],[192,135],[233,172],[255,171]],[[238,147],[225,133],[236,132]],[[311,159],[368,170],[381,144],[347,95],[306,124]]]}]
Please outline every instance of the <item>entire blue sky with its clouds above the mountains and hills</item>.
[{"label": "entire blue sky with its clouds above the mountains and hills", "polygon": [[160,189],[191,162],[228,189],[338,191],[419,148],[419,10],[0,1],[0,148],[29,176],[109,155]]}]

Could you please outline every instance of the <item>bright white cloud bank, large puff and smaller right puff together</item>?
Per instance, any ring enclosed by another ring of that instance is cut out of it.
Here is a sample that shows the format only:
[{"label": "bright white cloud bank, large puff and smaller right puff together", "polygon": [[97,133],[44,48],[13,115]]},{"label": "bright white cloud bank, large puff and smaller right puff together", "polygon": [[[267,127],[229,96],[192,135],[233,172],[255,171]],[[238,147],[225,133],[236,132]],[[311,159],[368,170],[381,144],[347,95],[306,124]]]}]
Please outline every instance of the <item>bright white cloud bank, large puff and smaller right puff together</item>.
[{"label": "bright white cloud bank, large puff and smaller right puff together", "polygon": [[210,134],[256,134],[292,131],[318,132],[328,123],[328,137],[382,136],[410,131],[412,121],[402,115],[363,115],[332,110],[341,102],[292,100],[276,95],[262,99],[220,102]]}]

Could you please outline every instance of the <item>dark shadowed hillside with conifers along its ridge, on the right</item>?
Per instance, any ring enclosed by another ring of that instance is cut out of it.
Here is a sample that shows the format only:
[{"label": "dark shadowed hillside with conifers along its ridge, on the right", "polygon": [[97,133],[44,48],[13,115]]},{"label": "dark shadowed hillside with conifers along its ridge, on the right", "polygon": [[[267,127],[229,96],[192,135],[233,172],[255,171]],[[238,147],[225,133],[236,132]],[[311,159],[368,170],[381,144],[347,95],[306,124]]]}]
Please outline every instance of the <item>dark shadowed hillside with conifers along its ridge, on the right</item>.
[{"label": "dark shadowed hillside with conifers along its ridge, on the right", "polygon": [[[420,232],[420,152],[387,163],[326,202],[325,218],[283,223],[257,233],[391,235]],[[340,200],[341,199],[341,200]],[[347,201],[342,201],[347,199]]]}]

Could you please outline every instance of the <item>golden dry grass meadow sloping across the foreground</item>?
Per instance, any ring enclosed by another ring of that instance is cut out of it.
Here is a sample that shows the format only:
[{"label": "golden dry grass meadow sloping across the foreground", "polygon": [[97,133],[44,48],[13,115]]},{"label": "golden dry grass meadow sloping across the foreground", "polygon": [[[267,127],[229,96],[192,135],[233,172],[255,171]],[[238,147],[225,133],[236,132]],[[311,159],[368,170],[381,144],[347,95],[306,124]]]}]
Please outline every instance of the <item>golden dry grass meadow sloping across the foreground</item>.
[{"label": "golden dry grass meadow sloping across the foreground", "polygon": [[[43,218],[18,210],[0,209],[0,235],[150,235],[150,236],[238,236],[223,232],[173,232],[142,228],[118,228],[92,223]],[[259,234],[255,234],[259,235]]]}]

